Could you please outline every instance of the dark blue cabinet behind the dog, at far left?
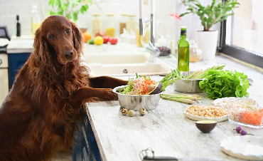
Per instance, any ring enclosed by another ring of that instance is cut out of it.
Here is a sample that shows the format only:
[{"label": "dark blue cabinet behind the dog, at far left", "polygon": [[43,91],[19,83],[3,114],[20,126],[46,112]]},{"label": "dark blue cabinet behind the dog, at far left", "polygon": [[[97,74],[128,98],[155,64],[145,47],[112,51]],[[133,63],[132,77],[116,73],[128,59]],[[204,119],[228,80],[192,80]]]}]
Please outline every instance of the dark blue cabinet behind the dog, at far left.
[{"label": "dark blue cabinet behind the dog, at far left", "polygon": [[31,53],[9,53],[9,89],[15,81],[19,69],[26,63]]}]

